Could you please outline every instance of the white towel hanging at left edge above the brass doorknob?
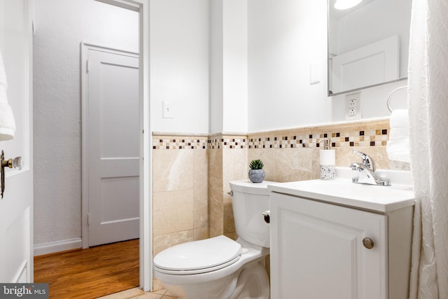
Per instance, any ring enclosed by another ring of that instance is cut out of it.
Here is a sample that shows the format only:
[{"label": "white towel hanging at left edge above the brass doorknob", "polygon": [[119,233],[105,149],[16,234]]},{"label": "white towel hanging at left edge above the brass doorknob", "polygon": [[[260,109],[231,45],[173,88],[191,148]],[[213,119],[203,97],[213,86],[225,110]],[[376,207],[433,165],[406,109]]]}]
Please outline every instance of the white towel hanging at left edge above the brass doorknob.
[{"label": "white towel hanging at left edge above the brass doorknob", "polygon": [[13,139],[15,133],[14,115],[6,97],[7,88],[5,66],[0,53],[0,141]]}]

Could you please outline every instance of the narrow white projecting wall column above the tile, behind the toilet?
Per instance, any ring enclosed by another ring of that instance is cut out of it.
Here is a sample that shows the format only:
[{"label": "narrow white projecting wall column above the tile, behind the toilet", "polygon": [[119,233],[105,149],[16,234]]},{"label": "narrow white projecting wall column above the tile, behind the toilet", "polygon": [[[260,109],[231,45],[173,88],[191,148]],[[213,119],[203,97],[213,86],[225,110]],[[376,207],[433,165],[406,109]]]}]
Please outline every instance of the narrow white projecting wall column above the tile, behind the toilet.
[{"label": "narrow white projecting wall column above the tile, behind the toilet", "polygon": [[211,2],[210,133],[247,132],[247,0]]}]

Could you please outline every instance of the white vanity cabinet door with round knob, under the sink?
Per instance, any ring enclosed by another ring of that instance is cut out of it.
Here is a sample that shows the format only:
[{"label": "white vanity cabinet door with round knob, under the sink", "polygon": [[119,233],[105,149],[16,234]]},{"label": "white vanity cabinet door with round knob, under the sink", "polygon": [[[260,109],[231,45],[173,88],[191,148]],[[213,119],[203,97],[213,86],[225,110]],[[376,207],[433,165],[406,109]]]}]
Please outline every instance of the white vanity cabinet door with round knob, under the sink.
[{"label": "white vanity cabinet door with round knob, under the sink", "polygon": [[387,298],[386,216],[277,193],[270,211],[272,299]]}]

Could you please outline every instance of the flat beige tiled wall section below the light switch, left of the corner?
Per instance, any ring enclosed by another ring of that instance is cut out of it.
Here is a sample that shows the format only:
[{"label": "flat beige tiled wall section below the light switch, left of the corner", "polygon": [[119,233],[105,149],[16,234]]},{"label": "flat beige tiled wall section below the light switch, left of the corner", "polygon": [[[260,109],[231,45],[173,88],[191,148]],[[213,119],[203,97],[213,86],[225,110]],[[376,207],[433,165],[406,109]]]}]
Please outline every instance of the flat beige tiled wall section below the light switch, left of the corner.
[{"label": "flat beige tiled wall section below the light switch, left of the corner", "polygon": [[153,136],[153,254],[209,237],[208,139]]}]

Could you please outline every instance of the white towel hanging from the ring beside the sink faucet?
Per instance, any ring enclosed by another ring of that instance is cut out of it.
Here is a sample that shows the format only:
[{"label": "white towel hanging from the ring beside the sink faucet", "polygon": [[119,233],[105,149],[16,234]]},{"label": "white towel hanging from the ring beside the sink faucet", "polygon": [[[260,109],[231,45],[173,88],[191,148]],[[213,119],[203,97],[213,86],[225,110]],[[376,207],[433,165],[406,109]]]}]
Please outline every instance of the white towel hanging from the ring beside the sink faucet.
[{"label": "white towel hanging from the ring beside the sink faucet", "polygon": [[391,130],[386,151],[389,160],[411,162],[409,155],[409,113],[407,109],[395,109],[390,119]]}]

